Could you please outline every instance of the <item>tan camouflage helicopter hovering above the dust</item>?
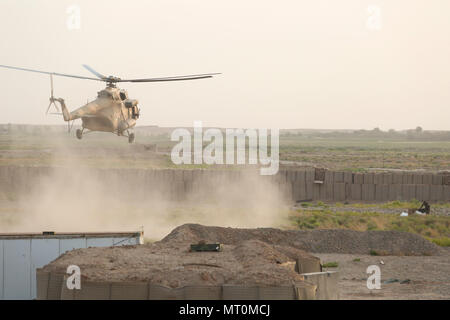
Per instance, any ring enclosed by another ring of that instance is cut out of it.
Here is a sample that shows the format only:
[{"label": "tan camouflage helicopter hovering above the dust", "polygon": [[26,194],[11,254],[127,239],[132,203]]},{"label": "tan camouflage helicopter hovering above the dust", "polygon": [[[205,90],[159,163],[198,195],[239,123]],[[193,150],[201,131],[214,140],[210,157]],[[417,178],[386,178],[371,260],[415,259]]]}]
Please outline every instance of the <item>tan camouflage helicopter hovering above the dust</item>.
[{"label": "tan camouflage helicopter hovering above the dust", "polygon": [[[212,78],[214,75],[220,73],[204,73],[184,76],[172,76],[172,77],[160,77],[160,78],[143,78],[143,79],[121,79],[115,76],[104,76],[103,74],[95,71],[90,66],[82,65],[89,72],[96,77],[85,77],[78,75],[70,75],[57,72],[48,72],[34,69],[26,69],[20,67],[12,67],[0,65],[2,68],[15,69],[21,71],[37,72],[50,75],[50,103],[47,107],[48,114],[51,106],[53,105],[58,113],[62,114],[64,121],[68,123],[69,132],[73,126],[73,123],[77,119],[81,119],[81,129],[76,130],[76,137],[81,139],[84,133],[101,131],[110,132],[117,136],[128,137],[128,142],[133,143],[135,136],[130,130],[136,125],[136,121],[139,119],[140,109],[138,107],[138,100],[130,99],[128,92],[124,89],[117,87],[117,83],[121,82],[162,82],[162,81],[184,81],[184,80],[198,80]],[[53,76],[70,77],[84,80],[95,80],[106,82],[106,88],[97,92],[97,98],[78,109],[69,112],[65,104],[64,99],[55,98],[53,96]],[[61,113],[58,105],[61,107]],[[70,124],[72,122],[72,124]]]}]

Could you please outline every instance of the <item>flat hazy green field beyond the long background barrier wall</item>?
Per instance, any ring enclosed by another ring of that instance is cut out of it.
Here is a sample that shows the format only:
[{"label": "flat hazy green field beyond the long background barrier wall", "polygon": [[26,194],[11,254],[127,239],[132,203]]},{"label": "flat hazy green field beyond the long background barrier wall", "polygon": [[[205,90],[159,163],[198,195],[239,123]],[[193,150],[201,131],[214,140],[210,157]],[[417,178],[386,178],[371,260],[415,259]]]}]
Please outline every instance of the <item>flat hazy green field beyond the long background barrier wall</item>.
[{"label": "flat hazy green field beyond the long background barrier wall", "polygon": [[[68,134],[61,129],[54,133],[34,127],[26,132],[4,132],[0,134],[0,165],[58,165],[76,158],[88,166],[174,166],[170,151],[176,142],[170,141],[171,131],[167,128],[157,132],[140,130],[133,145],[129,145],[126,138],[106,133],[89,133],[79,141],[73,132]],[[320,130],[291,133],[282,130],[280,160],[282,165],[313,165],[355,172],[367,169],[450,170],[450,133],[324,133]]]}]

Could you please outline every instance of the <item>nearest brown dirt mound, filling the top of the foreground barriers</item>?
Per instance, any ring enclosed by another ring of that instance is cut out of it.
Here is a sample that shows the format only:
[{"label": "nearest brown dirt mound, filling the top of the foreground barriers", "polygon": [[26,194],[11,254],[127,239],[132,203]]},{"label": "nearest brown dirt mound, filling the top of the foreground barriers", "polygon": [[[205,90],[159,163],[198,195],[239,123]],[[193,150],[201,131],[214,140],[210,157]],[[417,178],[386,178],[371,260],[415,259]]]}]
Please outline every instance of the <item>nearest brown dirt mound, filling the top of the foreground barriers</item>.
[{"label": "nearest brown dirt mound, filling the top of the foreground barriers", "polygon": [[294,269],[297,258],[315,259],[299,249],[280,248],[258,240],[224,245],[222,252],[189,252],[189,244],[189,241],[164,241],[78,249],[62,255],[44,270],[65,273],[68,265],[75,264],[86,280],[147,281],[171,288],[222,284],[279,286],[303,281],[303,276]]}]

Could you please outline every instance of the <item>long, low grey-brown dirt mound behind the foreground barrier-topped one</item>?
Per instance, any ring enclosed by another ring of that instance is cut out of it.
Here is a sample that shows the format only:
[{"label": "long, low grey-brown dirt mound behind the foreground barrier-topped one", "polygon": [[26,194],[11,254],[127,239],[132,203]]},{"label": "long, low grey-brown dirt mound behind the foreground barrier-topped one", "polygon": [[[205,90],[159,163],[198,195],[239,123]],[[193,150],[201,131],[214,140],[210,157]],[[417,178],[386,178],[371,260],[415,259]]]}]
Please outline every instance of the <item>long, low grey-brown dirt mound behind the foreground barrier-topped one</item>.
[{"label": "long, low grey-brown dirt mound behind the foreground barrier-topped one", "polygon": [[442,249],[426,239],[399,231],[237,229],[185,224],[174,229],[165,242],[220,242],[237,245],[256,239],[272,245],[288,246],[316,253],[380,255],[439,255]]}]

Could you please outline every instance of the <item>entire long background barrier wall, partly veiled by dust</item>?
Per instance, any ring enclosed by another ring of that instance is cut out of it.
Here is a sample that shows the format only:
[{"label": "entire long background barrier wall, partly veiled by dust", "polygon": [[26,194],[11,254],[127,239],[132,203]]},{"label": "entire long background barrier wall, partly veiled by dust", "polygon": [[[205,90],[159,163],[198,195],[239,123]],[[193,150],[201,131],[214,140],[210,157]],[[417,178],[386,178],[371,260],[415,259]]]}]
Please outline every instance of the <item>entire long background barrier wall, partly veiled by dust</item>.
[{"label": "entire long background barrier wall, partly veiled by dust", "polygon": [[[209,195],[211,191],[245,181],[267,183],[288,200],[325,201],[450,201],[450,172],[447,173],[352,173],[322,169],[280,170],[273,176],[260,176],[258,170],[182,170],[182,169],[65,169],[50,167],[0,167],[0,192],[23,193],[57,176],[71,180],[74,174],[134,198],[149,192],[171,201]],[[88,172],[88,174],[86,174]]]}]

